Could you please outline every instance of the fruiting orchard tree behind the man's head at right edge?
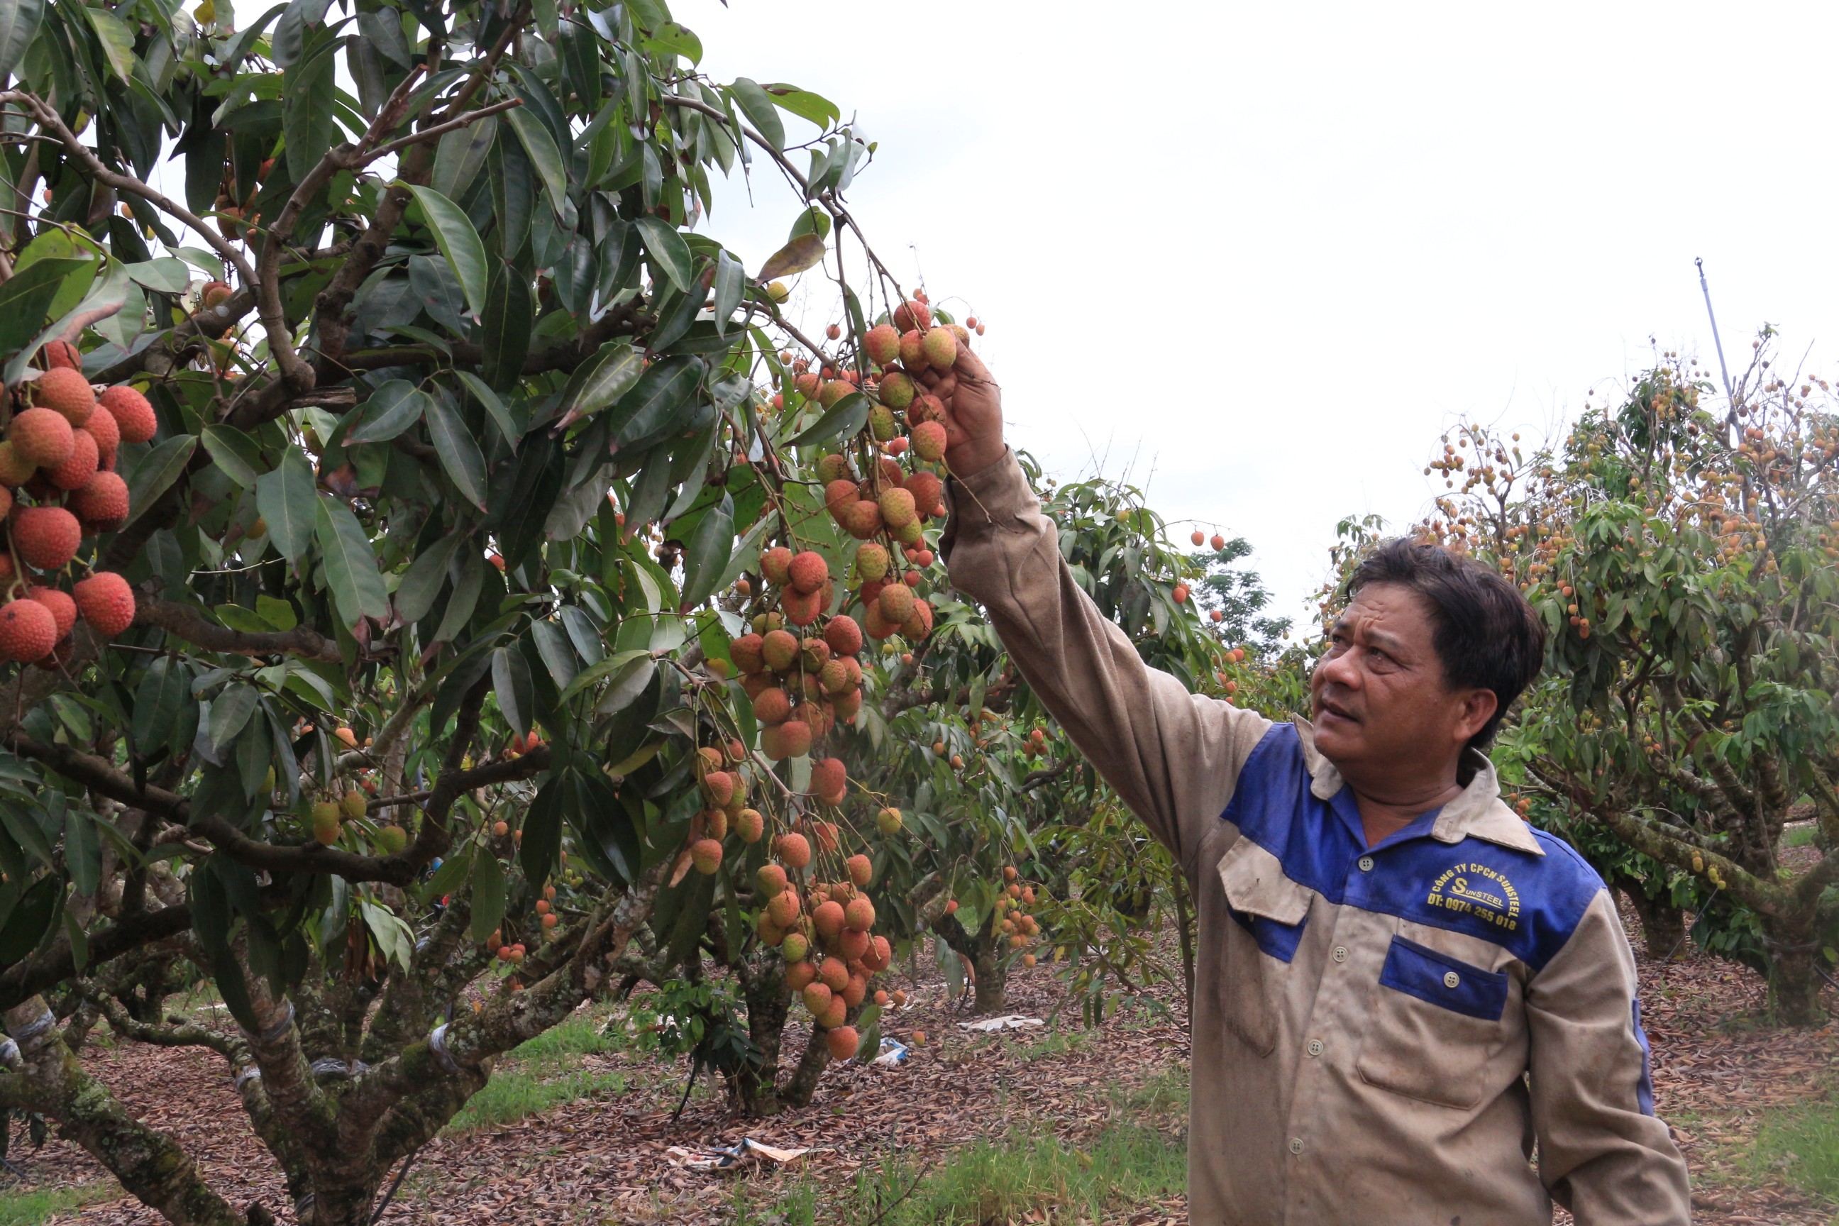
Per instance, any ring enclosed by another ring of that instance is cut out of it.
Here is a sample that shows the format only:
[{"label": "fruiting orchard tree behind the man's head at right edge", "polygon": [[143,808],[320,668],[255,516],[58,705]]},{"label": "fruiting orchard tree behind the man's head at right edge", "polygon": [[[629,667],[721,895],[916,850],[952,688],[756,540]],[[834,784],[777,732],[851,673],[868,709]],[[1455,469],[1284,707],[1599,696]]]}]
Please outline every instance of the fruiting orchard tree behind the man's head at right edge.
[{"label": "fruiting orchard tree behind the man's head at right edge", "polygon": [[[1423,529],[1513,577],[1550,632],[1497,752],[1510,778],[1664,866],[1648,897],[1742,904],[1754,943],[1725,945],[1810,1026],[1839,936],[1839,417],[1769,333],[1730,403],[1710,392],[1668,355],[1554,452],[1464,425]],[[1811,864],[1784,864],[1791,820]]]}]

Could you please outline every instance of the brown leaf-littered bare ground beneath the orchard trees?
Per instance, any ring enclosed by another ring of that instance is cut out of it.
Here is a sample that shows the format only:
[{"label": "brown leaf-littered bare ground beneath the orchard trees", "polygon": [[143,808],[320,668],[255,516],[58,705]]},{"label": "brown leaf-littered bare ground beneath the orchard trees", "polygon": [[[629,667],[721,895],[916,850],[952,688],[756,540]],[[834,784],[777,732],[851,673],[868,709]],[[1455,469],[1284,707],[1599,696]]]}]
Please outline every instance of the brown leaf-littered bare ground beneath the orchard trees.
[{"label": "brown leaf-littered bare ground beneath the orchard trees", "polygon": [[[1690,954],[1642,961],[1642,1009],[1653,1042],[1657,1107],[1694,1171],[1699,1222],[1833,1220],[1839,1204],[1795,1191],[1749,1160],[1764,1112],[1824,1097],[1835,1084],[1839,1050],[1832,1027],[1767,1029],[1756,1024],[1764,983],[1734,963]],[[1046,1018],[1059,1002],[1048,967],[1017,972],[1010,1009]],[[1839,1007],[1839,1000],[1828,1002]],[[897,1068],[831,1068],[809,1108],[771,1121],[728,1112],[719,1086],[699,1086],[671,1127],[686,1070],[634,1051],[581,1057],[581,1068],[620,1073],[623,1094],[600,1092],[509,1125],[443,1136],[416,1160],[384,1222],[726,1222],[736,1184],[771,1200],[789,1171],[704,1175],[666,1156],[671,1145],[723,1145],[750,1136],[776,1147],[809,1147],[800,1167],[824,1186],[846,1187],[864,1167],[899,1156],[925,1165],[978,1136],[1015,1125],[1048,1127],[1068,1141],[1102,1129],[1120,1092],[1182,1084],[1186,1018],[1179,985],[1135,1002],[1096,1029],[1070,1009],[1054,1027],[1011,1035],[960,1029],[967,1020],[942,983],[921,983],[914,1002],[886,1018],[885,1033],[912,1042]],[[281,1180],[256,1143],[223,1062],[206,1051],[118,1046],[96,1055],[99,1075],[149,1123],[175,1132],[235,1204],[263,1200],[283,1220]],[[1179,1116],[1166,1116],[1170,1145],[1184,1145]],[[107,1180],[68,1141],[53,1138],[13,1160],[33,1186]],[[156,1222],[131,1200],[103,1200],[72,1217],[94,1226]],[[1186,1222],[1181,1200],[1135,1206],[1118,1220],[1137,1226]]]}]

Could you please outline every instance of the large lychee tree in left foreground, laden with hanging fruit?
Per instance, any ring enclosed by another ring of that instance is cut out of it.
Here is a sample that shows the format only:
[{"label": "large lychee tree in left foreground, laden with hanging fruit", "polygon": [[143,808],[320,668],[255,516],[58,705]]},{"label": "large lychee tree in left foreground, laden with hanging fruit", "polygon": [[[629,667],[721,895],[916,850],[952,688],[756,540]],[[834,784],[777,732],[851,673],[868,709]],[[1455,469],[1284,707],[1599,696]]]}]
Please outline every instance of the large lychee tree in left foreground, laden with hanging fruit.
[{"label": "large lychee tree in left foreground, laden with hanging fruit", "polygon": [[[980,331],[866,248],[872,149],[660,0],[6,11],[0,1107],[169,1220],[274,1220],[85,1066],[213,1050],[349,1224],[712,917],[807,937],[815,1059],[872,1040],[839,726],[931,629],[923,371]],[[796,219],[754,272],[702,232],[750,169]],[[167,1007],[199,980],[226,1024]]]}]

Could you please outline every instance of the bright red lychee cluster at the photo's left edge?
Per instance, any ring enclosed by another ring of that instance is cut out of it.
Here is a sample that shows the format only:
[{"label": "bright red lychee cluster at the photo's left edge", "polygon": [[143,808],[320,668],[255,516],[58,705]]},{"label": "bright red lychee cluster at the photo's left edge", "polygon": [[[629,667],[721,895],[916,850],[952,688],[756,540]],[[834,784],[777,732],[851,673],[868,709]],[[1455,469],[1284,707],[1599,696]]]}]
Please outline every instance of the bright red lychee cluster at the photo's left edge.
[{"label": "bright red lychee cluster at the photo's left edge", "polygon": [[[33,585],[31,572],[61,572],[77,557],[83,537],[112,531],[127,520],[127,482],[114,472],[121,441],[145,443],[158,423],[153,406],[129,386],[109,388],[97,401],[68,342],[44,347],[46,368],[15,392],[31,404],[13,414],[0,441],[0,658],[63,667],[77,618],[101,638],[134,621],[134,590],[114,572],[77,581],[70,592],[50,573]],[[29,502],[26,502],[29,498]]]}]

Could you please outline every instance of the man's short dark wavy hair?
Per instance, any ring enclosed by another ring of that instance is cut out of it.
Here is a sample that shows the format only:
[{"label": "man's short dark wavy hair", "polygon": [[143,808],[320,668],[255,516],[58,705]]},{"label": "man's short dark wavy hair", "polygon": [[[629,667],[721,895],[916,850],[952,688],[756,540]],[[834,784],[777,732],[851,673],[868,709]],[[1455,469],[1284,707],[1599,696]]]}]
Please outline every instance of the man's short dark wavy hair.
[{"label": "man's short dark wavy hair", "polygon": [[1348,579],[1348,596],[1370,583],[1411,588],[1431,607],[1436,658],[1453,689],[1491,689],[1495,713],[1469,737],[1493,741],[1508,706],[1545,665],[1545,625],[1508,579],[1440,544],[1383,540]]}]

